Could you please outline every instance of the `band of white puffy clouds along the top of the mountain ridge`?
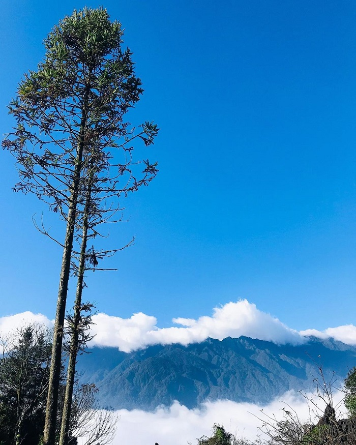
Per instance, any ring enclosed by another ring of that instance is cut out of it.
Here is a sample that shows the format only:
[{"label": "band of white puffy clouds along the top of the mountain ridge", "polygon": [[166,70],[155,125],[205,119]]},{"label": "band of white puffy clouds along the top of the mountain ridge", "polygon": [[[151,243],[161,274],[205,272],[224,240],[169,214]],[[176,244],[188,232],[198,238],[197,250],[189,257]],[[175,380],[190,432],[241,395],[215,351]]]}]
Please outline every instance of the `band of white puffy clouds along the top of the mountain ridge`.
[{"label": "band of white puffy clouds along the top of the mountain ridge", "polygon": [[[345,325],[328,328],[325,331],[309,329],[295,331],[288,328],[278,318],[259,311],[247,300],[230,302],[213,309],[212,316],[201,316],[198,319],[173,318],[173,326],[159,328],[157,318],[138,312],[130,318],[120,318],[104,313],[93,316],[93,334],[96,334],[92,346],[112,346],[130,352],[154,344],[181,343],[188,345],[204,341],[207,337],[222,340],[226,337],[242,335],[260,340],[273,341],[278,344],[301,344],[305,336],[334,338],[346,344],[356,345],[356,327]],[[16,315],[0,317],[0,332],[8,333],[29,322],[53,325],[45,315],[23,312]]]}]

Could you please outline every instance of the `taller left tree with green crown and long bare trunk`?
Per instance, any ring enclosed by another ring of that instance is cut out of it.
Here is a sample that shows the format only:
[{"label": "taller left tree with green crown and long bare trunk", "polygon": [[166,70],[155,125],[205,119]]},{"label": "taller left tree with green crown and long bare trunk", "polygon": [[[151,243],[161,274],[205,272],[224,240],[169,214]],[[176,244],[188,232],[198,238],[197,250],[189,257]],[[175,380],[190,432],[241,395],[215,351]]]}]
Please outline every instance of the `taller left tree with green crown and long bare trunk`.
[{"label": "taller left tree with green crown and long bare trunk", "polygon": [[[157,173],[156,164],[144,161],[142,171],[139,161],[133,159],[135,141],[152,144],[158,129],[146,122],[136,131],[124,122],[125,113],[143,90],[134,73],[131,51],[122,49],[122,35],[121,24],[110,22],[102,8],[74,11],[60,21],[44,42],[44,61],[37,71],[24,76],[17,97],[10,103],[17,126],[2,143],[19,165],[20,182],[14,190],[35,193],[66,221],[64,242],[59,243],[63,257],[45,445],[53,445],[55,439],[73,240],[76,227],[84,227],[85,203],[90,204],[91,236],[97,236],[97,226],[110,218],[115,221],[112,218],[120,209],[118,204],[104,201],[136,191]],[[90,171],[92,180],[87,181]],[[82,254],[79,249],[77,253]],[[85,259],[95,266],[100,256],[108,254],[93,248]]]}]

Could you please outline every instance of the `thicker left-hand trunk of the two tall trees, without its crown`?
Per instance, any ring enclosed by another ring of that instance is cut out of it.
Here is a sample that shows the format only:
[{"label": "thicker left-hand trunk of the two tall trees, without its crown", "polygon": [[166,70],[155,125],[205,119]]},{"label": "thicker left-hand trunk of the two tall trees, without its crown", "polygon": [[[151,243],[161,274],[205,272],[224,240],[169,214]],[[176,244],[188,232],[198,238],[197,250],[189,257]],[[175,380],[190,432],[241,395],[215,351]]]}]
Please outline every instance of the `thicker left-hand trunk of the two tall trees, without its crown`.
[{"label": "thicker left-hand trunk of the two tall trees, without its crown", "polygon": [[85,127],[86,127],[86,110],[84,108],[83,117],[80,125],[80,139],[78,142],[78,153],[73,174],[70,205],[67,217],[66,238],[64,242],[63,257],[62,257],[60,286],[58,289],[57,310],[54,321],[53,346],[51,355],[51,367],[49,373],[46,420],[43,433],[43,445],[54,445],[55,441],[58,391],[60,388],[61,366],[62,366],[63,329],[64,329],[64,319],[66,313],[70,264],[71,264],[71,256],[73,249],[73,236],[74,236],[74,227],[76,221],[80,173],[82,169]]}]

